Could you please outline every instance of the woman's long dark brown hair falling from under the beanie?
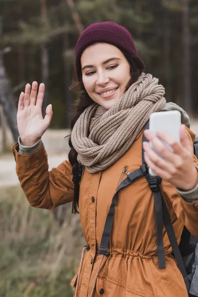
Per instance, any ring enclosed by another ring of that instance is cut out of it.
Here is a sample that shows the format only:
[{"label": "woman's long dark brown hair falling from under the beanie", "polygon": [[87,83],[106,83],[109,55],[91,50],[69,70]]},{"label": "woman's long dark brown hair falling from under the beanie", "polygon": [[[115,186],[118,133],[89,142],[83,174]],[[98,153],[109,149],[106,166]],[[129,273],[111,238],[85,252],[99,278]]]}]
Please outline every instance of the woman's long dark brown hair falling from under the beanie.
[{"label": "woman's long dark brown hair falling from under the beanie", "polygon": [[[123,51],[122,51],[123,52]],[[125,55],[126,59],[128,60],[130,64],[130,74],[131,74],[131,79],[129,80],[125,92],[129,89],[129,87],[137,81],[139,76],[142,74],[144,69],[142,68],[142,64],[139,64],[139,59],[137,57],[134,57],[131,54],[123,52]],[[85,90],[83,81],[82,81],[82,76],[80,82],[73,82],[72,86],[70,88],[71,90],[74,91],[79,91],[80,90],[80,97],[79,99],[75,102],[74,107],[75,107],[75,114],[71,120],[71,130],[73,129],[76,121],[80,117],[80,115],[83,113],[83,111],[93,104],[93,100],[90,98],[88,95],[87,91]],[[72,213],[77,213],[78,212],[78,202],[79,202],[79,183],[80,183],[80,173],[79,173],[79,163],[77,161],[77,151],[73,148],[72,143],[71,143],[71,133],[67,136],[69,138],[69,146],[70,146],[70,151],[68,154],[69,162],[72,165],[72,173],[73,173],[73,182],[74,182],[74,200],[72,203]]]}]

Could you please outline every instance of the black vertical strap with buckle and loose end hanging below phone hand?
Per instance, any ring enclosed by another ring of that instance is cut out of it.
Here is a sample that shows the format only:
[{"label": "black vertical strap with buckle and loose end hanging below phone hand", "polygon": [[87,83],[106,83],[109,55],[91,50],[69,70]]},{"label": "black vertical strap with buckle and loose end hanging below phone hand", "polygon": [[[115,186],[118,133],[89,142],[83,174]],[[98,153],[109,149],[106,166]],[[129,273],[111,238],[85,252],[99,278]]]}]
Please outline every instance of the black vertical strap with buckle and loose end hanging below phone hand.
[{"label": "black vertical strap with buckle and loose end hanging below phone hand", "polygon": [[[147,123],[145,129],[148,129],[148,126],[149,126],[149,122]],[[143,142],[144,141],[148,141],[148,139],[143,134]],[[144,148],[142,149],[142,160],[144,164],[145,163]],[[161,190],[159,186],[161,183],[161,179],[159,177],[150,176],[148,171],[145,177],[148,181],[148,185],[154,197],[158,266],[160,269],[162,269],[162,268],[166,268],[166,262],[165,262],[165,253],[164,253],[164,245],[163,245],[163,210],[162,210],[162,201],[161,201]]]}]

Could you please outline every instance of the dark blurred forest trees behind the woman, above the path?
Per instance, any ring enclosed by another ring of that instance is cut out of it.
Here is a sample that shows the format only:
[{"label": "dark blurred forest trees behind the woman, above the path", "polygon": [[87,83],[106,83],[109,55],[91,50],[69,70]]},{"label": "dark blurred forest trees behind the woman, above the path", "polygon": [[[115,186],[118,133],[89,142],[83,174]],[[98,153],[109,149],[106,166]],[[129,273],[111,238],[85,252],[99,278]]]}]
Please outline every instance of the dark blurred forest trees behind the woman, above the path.
[{"label": "dark blurred forest trees behind the woman, above the path", "polygon": [[146,64],[159,78],[167,101],[191,115],[198,112],[197,0],[0,0],[1,49],[16,103],[26,83],[47,87],[45,105],[53,106],[51,128],[70,125],[69,91],[74,49],[91,23],[111,20],[132,34]]}]

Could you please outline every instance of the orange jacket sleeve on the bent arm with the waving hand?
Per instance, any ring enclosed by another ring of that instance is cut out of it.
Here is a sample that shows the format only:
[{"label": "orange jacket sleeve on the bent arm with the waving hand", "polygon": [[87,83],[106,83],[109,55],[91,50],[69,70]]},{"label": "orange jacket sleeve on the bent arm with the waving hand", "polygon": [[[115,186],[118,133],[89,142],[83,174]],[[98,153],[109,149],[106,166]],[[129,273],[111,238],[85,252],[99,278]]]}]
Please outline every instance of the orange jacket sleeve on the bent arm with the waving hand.
[{"label": "orange jacket sleeve on the bent arm with the waving hand", "polygon": [[72,166],[67,160],[49,171],[44,144],[29,155],[18,153],[18,143],[11,149],[21,188],[31,206],[54,209],[73,200]]}]

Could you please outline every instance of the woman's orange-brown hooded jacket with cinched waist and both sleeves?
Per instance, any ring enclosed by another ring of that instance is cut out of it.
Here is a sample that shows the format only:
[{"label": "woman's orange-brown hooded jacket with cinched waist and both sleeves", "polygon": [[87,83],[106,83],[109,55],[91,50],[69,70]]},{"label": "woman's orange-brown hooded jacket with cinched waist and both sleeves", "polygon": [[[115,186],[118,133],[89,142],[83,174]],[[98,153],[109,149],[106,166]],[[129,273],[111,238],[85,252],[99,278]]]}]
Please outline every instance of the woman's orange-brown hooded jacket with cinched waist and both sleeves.
[{"label": "woman's orange-brown hooded jacket with cinched waist and both sleeves", "polygon": [[[189,130],[190,131],[190,130]],[[191,142],[195,134],[190,131]],[[189,134],[189,136],[190,136]],[[193,145],[193,142],[192,142]],[[12,147],[21,187],[34,207],[53,209],[73,199],[72,167],[64,161],[48,171],[44,145],[31,155]],[[195,164],[198,160],[195,158]],[[158,268],[153,195],[145,177],[120,191],[115,207],[109,256],[97,254],[111,200],[128,172],[142,165],[142,134],[113,165],[96,174],[84,170],[80,184],[79,212],[87,245],[77,296],[90,297],[188,297],[183,277],[171,255],[163,229],[166,268]],[[178,243],[184,225],[198,237],[198,201],[187,202],[170,183],[162,181],[165,198]],[[99,267],[100,263],[100,267]],[[98,272],[98,273],[97,273]],[[76,285],[77,275],[71,282]]]}]

